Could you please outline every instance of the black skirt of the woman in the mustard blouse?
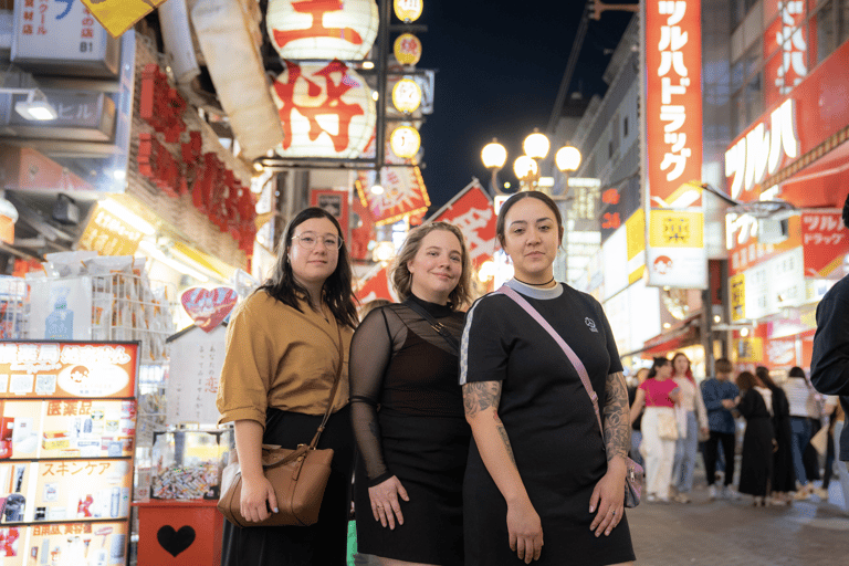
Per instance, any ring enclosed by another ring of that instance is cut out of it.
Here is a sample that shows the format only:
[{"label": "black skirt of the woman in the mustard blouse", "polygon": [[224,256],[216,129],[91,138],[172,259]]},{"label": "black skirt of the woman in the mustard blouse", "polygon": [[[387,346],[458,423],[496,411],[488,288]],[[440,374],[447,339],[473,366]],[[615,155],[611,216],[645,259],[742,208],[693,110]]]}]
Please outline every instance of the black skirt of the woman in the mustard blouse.
[{"label": "black skirt of the woman in the mustard blouse", "polygon": [[[322,418],[269,409],[262,441],[284,448],[307,443]],[[222,566],[345,566],[354,447],[346,406],[331,416],[318,440],[318,448],[334,451],[318,522],[312,526],[240,528],[224,521]]]}]

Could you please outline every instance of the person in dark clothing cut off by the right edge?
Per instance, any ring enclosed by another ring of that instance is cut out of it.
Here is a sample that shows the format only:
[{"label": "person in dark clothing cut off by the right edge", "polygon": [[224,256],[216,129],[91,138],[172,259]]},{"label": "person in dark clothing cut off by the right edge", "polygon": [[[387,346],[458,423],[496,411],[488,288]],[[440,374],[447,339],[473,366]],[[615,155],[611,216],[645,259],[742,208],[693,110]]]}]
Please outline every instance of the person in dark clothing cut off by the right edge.
[{"label": "person in dark clothing cut off by the right edge", "polygon": [[[849,228],[849,195],[843,203],[843,228]],[[817,305],[817,332],[814,335],[814,352],[810,360],[810,381],[825,395],[840,396],[843,423],[838,442],[837,458],[847,463],[840,472],[840,483],[849,512],[849,275],[838,281]],[[838,428],[835,428],[835,436]]]}]

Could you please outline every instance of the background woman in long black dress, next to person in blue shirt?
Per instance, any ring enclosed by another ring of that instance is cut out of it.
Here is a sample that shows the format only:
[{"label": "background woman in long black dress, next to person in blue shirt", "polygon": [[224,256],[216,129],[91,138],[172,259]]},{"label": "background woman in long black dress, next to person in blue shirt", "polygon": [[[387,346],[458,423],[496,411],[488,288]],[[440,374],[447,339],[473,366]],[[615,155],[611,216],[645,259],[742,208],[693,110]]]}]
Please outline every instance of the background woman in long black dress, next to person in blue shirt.
[{"label": "background woman in long black dress, next to person in blue shirt", "polygon": [[[746,419],[737,491],[752,495],[756,507],[764,506],[773,475],[772,394],[751,371],[740,373],[737,387],[741,392],[737,410]],[[768,401],[765,395],[769,397]]]}]

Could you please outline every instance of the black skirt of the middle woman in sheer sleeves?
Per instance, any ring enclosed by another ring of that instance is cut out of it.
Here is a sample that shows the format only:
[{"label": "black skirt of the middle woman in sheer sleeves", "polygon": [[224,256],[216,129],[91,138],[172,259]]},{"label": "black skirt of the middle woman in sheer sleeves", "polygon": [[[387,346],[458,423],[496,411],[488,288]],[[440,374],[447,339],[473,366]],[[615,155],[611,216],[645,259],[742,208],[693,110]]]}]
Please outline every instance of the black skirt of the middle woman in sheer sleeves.
[{"label": "black skirt of the middle woman in sheer sleeves", "polygon": [[384,460],[409,502],[403,525],[375,521],[368,476],[357,464],[357,551],[385,558],[454,566],[463,564],[463,474],[471,429],[463,417],[415,417],[380,411]]}]

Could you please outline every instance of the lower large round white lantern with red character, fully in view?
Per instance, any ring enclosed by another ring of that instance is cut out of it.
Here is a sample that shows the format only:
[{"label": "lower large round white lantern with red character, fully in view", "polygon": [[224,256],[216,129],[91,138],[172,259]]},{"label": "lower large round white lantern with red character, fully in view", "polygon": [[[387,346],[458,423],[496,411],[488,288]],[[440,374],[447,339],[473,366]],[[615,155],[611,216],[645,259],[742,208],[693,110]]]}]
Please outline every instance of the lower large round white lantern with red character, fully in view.
[{"label": "lower large round white lantern with red character, fully in view", "polygon": [[366,81],[344,63],[298,65],[274,80],[283,125],[283,157],[359,157],[375,133],[377,111]]}]

